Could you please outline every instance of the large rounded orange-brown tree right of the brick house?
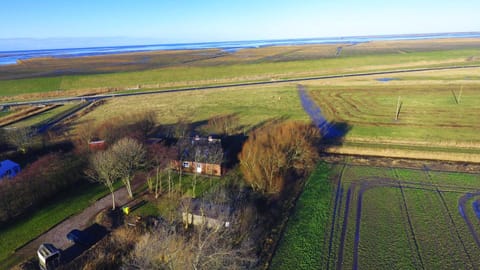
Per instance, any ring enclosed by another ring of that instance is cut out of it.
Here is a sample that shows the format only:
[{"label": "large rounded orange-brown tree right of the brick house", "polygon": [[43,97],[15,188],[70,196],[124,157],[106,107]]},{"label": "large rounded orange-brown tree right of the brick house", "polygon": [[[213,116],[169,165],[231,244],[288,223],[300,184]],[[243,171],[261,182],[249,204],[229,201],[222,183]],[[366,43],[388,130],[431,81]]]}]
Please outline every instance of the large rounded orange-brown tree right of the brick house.
[{"label": "large rounded orange-brown tree right of the brick house", "polygon": [[274,123],[255,130],[239,155],[245,180],[257,191],[276,194],[286,177],[309,172],[318,157],[317,128],[300,122]]}]

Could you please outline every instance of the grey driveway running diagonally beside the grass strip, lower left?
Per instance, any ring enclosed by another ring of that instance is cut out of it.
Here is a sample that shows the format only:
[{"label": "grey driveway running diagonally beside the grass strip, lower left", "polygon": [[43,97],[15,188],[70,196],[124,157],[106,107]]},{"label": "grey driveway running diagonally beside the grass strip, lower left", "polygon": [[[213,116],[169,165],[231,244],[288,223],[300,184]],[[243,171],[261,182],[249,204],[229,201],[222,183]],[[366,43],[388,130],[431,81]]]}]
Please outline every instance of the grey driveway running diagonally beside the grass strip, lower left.
[{"label": "grey driveway running diagonally beside the grass strip, lower left", "polygon": [[[125,188],[115,191],[115,201],[117,205],[124,205],[130,201],[128,198],[127,190]],[[13,256],[20,257],[22,259],[28,259],[36,255],[38,247],[42,243],[51,243],[54,246],[65,249],[71,245],[67,240],[66,235],[73,229],[85,229],[92,219],[103,209],[112,206],[112,197],[107,195],[94,204],[83,210],[80,214],[72,216],[63,222],[53,227],[48,232],[42,234],[37,239],[28,243],[26,246],[17,250]]]}]

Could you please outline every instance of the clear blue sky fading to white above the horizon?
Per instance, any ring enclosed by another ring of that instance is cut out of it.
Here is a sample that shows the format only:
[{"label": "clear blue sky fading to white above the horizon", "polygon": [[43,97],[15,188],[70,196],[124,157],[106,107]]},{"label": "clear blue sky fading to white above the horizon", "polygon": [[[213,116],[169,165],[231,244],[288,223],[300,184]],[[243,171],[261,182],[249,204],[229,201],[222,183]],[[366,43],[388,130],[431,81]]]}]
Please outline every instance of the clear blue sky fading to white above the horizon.
[{"label": "clear blue sky fading to white above the horizon", "polygon": [[5,0],[0,49],[480,31],[478,0]]}]

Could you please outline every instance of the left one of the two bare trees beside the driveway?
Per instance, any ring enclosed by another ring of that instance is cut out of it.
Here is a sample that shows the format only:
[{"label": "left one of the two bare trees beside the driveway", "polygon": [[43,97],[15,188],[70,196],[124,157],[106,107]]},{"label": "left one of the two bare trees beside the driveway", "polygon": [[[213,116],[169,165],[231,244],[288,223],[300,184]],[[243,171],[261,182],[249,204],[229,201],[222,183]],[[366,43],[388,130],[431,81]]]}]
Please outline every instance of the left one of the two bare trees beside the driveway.
[{"label": "left one of the two bare trees beside the driveway", "polygon": [[95,153],[90,158],[90,168],[86,174],[95,182],[105,185],[112,194],[112,210],[115,210],[115,189],[113,184],[118,179],[117,161],[110,151]]}]

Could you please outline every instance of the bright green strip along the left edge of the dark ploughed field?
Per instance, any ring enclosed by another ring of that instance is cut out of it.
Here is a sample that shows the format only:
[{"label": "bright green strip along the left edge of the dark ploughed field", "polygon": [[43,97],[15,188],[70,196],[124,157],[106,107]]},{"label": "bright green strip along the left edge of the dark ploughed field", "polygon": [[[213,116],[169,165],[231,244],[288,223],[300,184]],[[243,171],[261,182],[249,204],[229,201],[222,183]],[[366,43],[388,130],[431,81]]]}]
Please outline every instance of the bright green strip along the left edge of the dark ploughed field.
[{"label": "bright green strip along the left edge of the dark ploughed field", "polygon": [[319,269],[325,262],[323,247],[333,194],[328,175],[327,165],[320,164],[309,177],[280,240],[271,269]]}]

